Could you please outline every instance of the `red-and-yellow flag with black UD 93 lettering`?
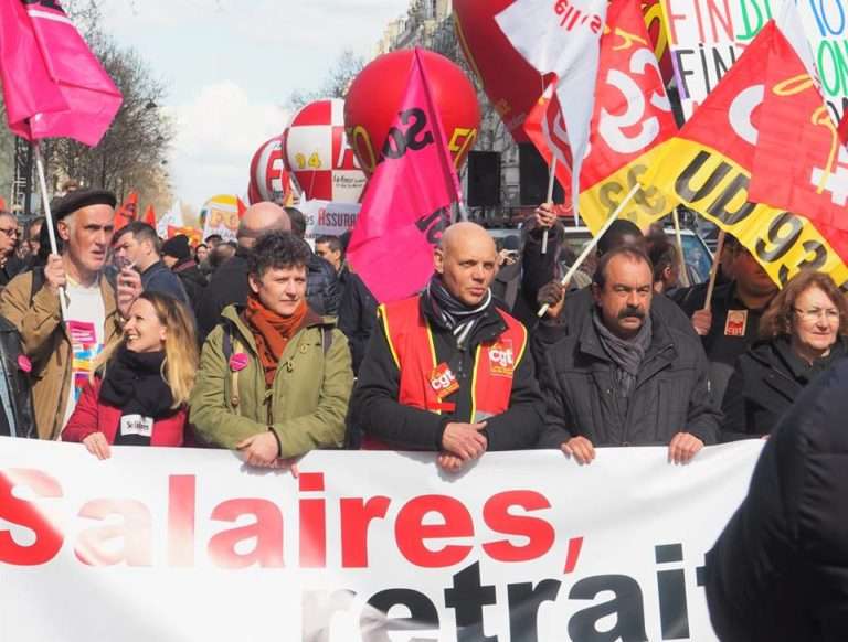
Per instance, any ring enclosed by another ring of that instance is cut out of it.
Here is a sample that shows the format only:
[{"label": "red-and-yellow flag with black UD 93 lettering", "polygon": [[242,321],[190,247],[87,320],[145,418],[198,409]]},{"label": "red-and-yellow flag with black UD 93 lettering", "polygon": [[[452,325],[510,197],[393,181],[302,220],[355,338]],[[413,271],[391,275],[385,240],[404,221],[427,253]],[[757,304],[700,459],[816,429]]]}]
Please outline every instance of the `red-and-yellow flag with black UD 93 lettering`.
[{"label": "red-and-yellow flag with black UD 93 lettering", "polygon": [[735,236],[777,283],[798,270],[818,269],[837,285],[846,268],[825,234],[787,208],[757,203],[750,195],[757,146],[768,51],[770,22],[680,129],[664,146],[662,158],[643,176]]}]

